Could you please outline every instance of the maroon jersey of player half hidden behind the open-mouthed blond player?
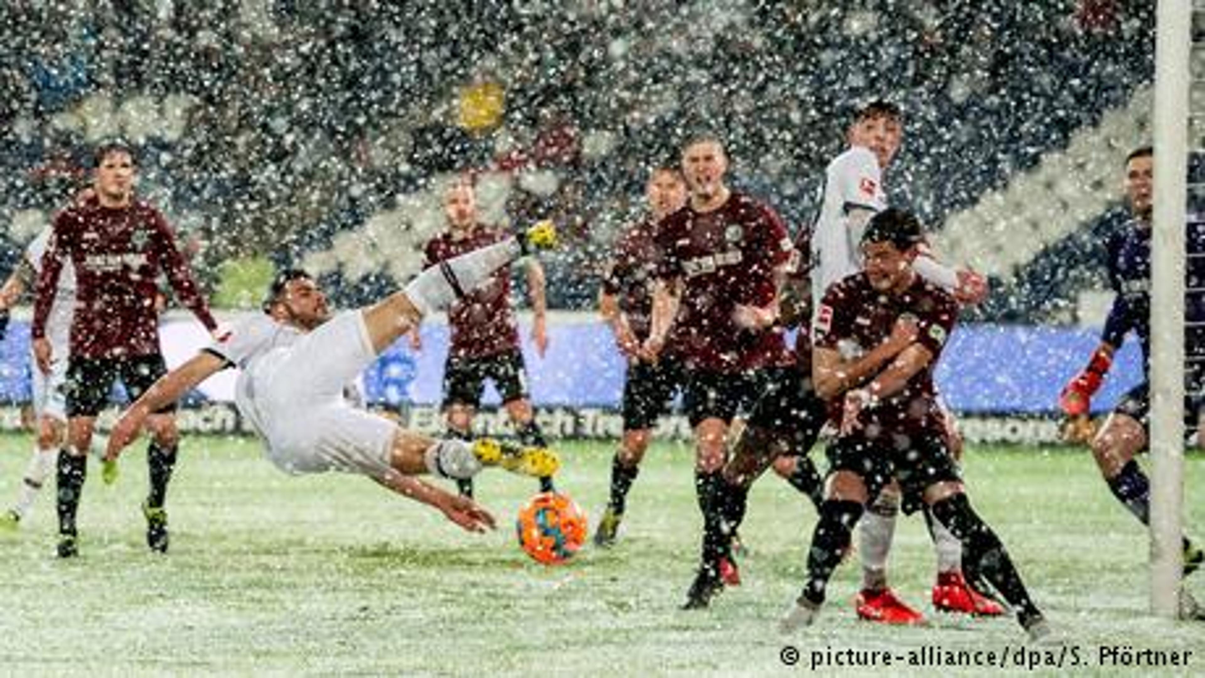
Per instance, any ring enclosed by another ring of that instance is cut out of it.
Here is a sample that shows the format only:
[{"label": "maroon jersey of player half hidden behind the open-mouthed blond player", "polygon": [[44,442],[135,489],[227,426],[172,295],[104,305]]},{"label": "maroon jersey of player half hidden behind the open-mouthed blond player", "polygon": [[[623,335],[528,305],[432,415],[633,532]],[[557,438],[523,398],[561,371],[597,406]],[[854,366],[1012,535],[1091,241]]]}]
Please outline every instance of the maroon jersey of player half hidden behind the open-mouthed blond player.
[{"label": "maroon jersey of player half hidden behind the open-mouthed blond player", "polygon": [[648,338],[653,319],[653,283],[662,258],[656,234],[657,224],[651,220],[628,229],[616,241],[602,276],[602,291],[618,297],[628,326],[640,341]]}]

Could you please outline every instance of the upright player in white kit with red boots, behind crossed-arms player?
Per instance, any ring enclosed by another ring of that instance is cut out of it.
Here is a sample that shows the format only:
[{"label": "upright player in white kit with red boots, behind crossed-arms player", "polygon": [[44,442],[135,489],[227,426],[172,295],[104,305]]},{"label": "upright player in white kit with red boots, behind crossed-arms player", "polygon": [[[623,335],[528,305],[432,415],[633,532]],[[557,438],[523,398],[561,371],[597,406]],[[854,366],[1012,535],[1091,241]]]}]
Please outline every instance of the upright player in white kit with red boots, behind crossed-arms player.
[{"label": "upright player in white kit with red boots, behind crossed-arms player", "polygon": [[[829,163],[824,177],[824,195],[811,237],[812,322],[823,308],[821,299],[830,285],[863,270],[858,243],[870,218],[887,207],[882,172],[894,159],[903,141],[903,116],[894,104],[872,101],[857,111],[848,130],[850,148]],[[978,303],[987,295],[987,284],[974,271],[957,271],[937,263],[927,247],[921,248],[913,270],[927,281],[953,293],[964,305]],[[951,449],[960,450],[960,441],[951,429]],[[869,507],[859,530],[858,553],[863,566],[863,588],[858,594],[858,615],[888,624],[915,624],[922,620],[887,585],[887,556],[895,533],[900,493],[894,483]],[[970,588],[962,574],[962,543],[940,521],[925,515],[937,553],[937,582],[933,605],[948,612],[1001,614],[991,599]]]}]

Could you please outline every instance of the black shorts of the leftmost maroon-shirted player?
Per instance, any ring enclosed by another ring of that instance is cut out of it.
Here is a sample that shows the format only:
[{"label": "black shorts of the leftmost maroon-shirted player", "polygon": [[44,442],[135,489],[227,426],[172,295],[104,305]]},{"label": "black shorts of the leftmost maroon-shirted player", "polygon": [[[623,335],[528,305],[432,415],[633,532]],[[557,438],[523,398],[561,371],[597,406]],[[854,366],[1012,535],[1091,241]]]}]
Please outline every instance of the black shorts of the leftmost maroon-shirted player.
[{"label": "black shorts of the leftmost maroon-shirted player", "polygon": [[[67,417],[95,417],[108,405],[113,383],[122,381],[130,402],[137,400],[151,384],[167,373],[161,354],[134,358],[76,358],[67,360]],[[176,403],[165,405],[157,414],[175,412]]]}]

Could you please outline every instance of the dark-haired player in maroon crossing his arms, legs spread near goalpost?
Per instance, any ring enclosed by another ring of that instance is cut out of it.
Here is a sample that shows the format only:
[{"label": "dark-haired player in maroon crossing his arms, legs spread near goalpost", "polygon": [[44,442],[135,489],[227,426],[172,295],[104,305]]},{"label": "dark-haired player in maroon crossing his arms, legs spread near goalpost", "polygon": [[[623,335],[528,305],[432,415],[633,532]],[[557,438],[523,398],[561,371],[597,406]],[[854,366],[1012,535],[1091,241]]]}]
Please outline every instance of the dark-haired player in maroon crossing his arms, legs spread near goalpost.
[{"label": "dark-haired player in maroon crossing his arms, legs spread near goalpost", "polygon": [[1050,627],[1004,544],[971,508],[946,450],[933,373],[958,301],[912,269],[922,243],[912,214],[890,208],[875,214],[860,238],[864,272],[830,287],[817,309],[812,377],[821,397],[840,399],[840,434],[829,448],[831,468],[807,550],[807,583],[781,629],[790,632],[816,620],[854,524],[894,478],[905,497],[919,497],[962,541],[968,568],[991,582],[1030,638],[1039,639]]}]

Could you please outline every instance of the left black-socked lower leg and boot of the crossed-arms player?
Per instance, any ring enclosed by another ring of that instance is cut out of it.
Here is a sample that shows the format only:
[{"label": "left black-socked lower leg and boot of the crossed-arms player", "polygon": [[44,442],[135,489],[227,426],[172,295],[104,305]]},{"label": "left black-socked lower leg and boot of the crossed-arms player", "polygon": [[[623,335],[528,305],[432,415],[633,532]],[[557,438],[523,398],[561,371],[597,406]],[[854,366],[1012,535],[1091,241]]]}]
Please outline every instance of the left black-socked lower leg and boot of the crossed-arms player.
[{"label": "left black-socked lower leg and boot of the crossed-arms player", "polygon": [[824,589],[850,548],[853,526],[863,511],[862,502],[857,501],[825,500],[821,505],[819,521],[807,549],[807,583],[778,621],[780,631],[790,633],[816,621],[824,605]]}]

